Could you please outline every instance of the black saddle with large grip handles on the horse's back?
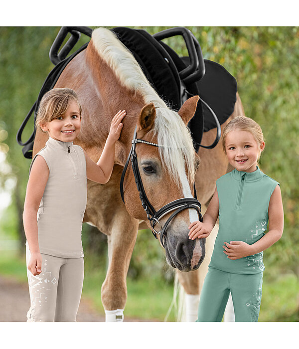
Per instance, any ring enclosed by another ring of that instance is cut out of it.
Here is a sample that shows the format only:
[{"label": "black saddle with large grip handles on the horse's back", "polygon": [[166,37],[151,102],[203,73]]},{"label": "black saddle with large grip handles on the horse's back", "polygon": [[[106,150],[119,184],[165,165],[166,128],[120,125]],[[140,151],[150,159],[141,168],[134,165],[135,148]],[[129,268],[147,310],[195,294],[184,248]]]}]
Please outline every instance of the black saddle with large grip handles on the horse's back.
[{"label": "black saddle with large grip handles on the horse's back", "polygon": [[[202,103],[197,104],[196,112],[188,127],[196,152],[200,146],[213,148],[221,135],[220,124],[224,123],[233,113],[237,92],[236,79],[220,64],[203,59],[198,41],[191,31],[184,27],[166,29],[154,35],[150,35],[143,29],[127,27],[116,27],[111,30],[132,52],[152,87],[171,109],[178,111],[189,97],[200,96]],[[71,33],[70,39],[58,53],[69,32]],[[92,29],[88,27],[62,27],[51,46],[50,59],[55,67],[47,76],[36,102],[16,135],[18,144],[23,146],[22,152],[25,158],[32,158],[36,130],[34,126],[32,135],[24,143],[21,141],[22,131],[33,111],[35,125],[36,113],[42,96],[54,87],[70,60],[87,47],[88,43],[66,57],[79,40],[80,32],[91,37]],[[188,57],[179,57],[172,48],[162,41],[162,39],[175,35],[183,36],[188,49]],[[215,127],[217,127],[217,136],[214,143],[210,146],[202,146],[200,142],[203,132]]]}]

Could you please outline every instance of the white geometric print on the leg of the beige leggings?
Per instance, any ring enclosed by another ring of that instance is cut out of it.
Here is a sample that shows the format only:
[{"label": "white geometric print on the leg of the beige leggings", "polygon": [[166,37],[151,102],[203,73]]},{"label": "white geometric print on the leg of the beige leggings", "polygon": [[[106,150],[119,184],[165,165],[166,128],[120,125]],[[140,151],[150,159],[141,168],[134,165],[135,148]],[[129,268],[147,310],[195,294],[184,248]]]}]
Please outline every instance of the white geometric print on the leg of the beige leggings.
[{"label": "white geometric print on the leg of the beige leggings", "polygon": [[36,276],[32,275],[29,270],[27,271],[31,300],[30,309],[27,313],[28,322],[35,322],[34,315],[36,307],[41,307],[43,303],[47,303],[51,284],[55,285],[57,282],[56,278],[52,277],[52,273],[47,270],[47,259],[44,260],[41,271]]}]

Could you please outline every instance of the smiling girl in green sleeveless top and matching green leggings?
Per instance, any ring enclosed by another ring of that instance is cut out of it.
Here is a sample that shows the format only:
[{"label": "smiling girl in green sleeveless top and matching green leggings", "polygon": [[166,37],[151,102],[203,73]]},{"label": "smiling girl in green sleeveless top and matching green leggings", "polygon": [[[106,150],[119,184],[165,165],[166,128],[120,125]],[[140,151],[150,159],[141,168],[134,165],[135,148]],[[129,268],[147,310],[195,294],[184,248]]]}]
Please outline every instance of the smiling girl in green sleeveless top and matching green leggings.
[{"label": "smiling girl in green sleeveless top and matching green leggings", "polygon": [[263,251],[281,238],[284,229],[280,184],[257,166],[265,142],[254,120],[245,116],[233,119],[223,131],[222,146],[234,170],[217,179],[203,222],[189,226],[189,239],[206,238],[219,216],[197,322],[220,322],[230,293],[235,321],[257,322],[265,269]]}]

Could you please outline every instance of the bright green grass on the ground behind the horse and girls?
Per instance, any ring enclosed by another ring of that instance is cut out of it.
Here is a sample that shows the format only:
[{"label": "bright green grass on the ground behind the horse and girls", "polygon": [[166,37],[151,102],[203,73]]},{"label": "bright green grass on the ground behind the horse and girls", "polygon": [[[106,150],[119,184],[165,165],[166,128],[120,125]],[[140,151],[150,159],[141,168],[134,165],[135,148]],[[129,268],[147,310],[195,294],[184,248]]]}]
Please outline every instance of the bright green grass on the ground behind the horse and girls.
[{"label": "bright green grass on the ground behind the horse and girls", "polygon": [[[0,255],[0,274],[27,282],[25,257],[15,252]],[[101,285],[105,268],[96,266],[94,260],[85,257],[85,277],[82,296],[92,301],[94,309],[104,315],[101,302]],[[172,300],[173,285],[161,277],[132,280],[128,277],[127,318],[163,321]],[[299,280],[294,274],[281,274],[275,279],[264,273],[263,296],[259,322],[299,321]],[[172,310],[167,321],[175,321]]]}]

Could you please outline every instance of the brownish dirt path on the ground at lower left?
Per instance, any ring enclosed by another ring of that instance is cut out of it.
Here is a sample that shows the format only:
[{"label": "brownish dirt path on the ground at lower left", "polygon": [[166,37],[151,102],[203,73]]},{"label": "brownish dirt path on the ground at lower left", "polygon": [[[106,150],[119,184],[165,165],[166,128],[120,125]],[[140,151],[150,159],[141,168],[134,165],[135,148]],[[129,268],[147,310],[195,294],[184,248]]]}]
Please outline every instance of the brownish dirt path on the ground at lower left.
[{"label": "brownish dirt path on the ground at lower left", "polygon": [[[30,306],[28,285],[0,276],[0,322],[25,322]],[[77,322],[104,322],[105,317],[92,309],[92,304],[81,299]],[[125,322],[144,322],[126,319]]]}]

